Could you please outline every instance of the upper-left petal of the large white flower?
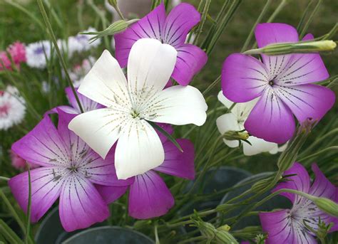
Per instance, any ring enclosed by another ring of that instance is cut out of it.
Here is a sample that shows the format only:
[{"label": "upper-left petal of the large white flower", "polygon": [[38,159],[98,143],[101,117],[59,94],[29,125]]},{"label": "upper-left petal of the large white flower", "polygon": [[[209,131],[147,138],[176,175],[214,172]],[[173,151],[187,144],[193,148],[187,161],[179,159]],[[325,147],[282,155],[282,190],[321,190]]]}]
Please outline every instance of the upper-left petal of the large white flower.
[{"label": "upper-left petal of the large white flower", "polygon": [[78,92],[106,107],[116,103],[128,105],[130,102],[126,77],[118,61],[107,50],[83,78]]}]

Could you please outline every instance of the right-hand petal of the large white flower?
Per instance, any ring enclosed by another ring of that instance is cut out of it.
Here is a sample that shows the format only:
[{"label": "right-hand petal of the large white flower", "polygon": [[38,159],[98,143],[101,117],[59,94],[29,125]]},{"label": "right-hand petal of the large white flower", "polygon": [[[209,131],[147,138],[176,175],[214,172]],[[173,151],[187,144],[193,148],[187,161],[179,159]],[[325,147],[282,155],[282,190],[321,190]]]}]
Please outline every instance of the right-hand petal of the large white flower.
[{"label": "right-hand petal of the large white flower", "polygon": [[205,103],[202,93],[190,85],[175,85],[155,95],[142,110],[145,120],[168,124],[196,124],[205,123],[207,119]]}]

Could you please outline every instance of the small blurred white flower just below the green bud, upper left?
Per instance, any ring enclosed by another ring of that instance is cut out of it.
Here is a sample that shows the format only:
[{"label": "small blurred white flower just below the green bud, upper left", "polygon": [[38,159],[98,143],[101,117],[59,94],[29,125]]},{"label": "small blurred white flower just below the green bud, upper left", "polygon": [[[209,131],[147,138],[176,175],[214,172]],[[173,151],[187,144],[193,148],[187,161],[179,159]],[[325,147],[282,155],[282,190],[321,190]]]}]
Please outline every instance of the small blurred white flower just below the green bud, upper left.
[{"label": "small blurred white flower just below the green bud, upper left", "polygon": [[[88,28],[88,30],[83,32],[96,32],[95,28]],[[76,36],[70,36],[68,38],[68,53],[69,55],[73,55],[73,53],[81,53],[83,51],[88,51],[91,48],[96,48],[101,44],[101,39],[97,39],[96,41],[89,41],[94,35],[86,35],[86,34],[78,34]]]}]

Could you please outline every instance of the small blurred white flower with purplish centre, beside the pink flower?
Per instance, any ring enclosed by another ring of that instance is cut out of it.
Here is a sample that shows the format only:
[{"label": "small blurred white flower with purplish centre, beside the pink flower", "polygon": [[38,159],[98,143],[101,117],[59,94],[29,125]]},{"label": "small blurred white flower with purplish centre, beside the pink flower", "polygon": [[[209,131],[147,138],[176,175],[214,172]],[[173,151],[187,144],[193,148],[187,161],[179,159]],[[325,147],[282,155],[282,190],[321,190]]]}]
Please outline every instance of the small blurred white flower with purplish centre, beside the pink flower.
[{"label": "small blurred white flower with purplish centre, beside the pink flower", "polygon": [[46,58],[51,58],[51,43],[39,41],[26,47],[27,65],[31,68],[46,68]]}]

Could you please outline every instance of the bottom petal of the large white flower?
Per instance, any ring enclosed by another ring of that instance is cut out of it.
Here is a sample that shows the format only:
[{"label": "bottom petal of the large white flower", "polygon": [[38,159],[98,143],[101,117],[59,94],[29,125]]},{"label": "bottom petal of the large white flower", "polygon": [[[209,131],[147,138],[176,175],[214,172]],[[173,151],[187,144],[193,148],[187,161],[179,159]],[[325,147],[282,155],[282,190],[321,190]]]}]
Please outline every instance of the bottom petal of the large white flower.
[{"label": "bottom petal of the large white flower", "polygon": [[145,120],[130,120],[121,133],[115,152],[118,179],[143,174],[160,166],[164,149],[155,129]]}]

